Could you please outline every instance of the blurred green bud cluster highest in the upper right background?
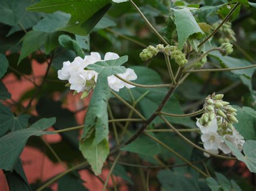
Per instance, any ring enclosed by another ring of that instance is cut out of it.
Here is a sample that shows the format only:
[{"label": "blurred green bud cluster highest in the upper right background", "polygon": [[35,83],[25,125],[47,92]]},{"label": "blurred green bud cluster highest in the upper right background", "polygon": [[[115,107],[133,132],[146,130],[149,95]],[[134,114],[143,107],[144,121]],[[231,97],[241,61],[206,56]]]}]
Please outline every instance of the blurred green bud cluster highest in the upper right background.
[{"label": "blurred green bud cluster highest in the upper right background", "polygon": [[[213,24],[213,27],[216,28],[221,22]],[[219,43],[233,43],[237,41],[235,38],[235,33],[232,30],[232,24],[230,22],[225,22],[219,29],[218,33],[221,35],[219,38]]]}]

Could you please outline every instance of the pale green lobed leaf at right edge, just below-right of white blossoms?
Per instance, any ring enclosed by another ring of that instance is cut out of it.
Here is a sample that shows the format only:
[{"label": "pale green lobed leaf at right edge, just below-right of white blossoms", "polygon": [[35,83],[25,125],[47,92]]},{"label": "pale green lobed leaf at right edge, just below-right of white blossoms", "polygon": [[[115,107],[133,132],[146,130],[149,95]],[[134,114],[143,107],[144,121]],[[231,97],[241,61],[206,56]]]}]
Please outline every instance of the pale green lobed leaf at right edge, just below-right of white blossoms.
[{"label": "pale green lobed leaf at right edge, just below-right of white blossoms", "polygon": [[244,162],[251,172],[256,173],[256,140],[247,140],[244,143],[242,146],[242,151],[245,155],[242,155],[242,153],[238,150],[237,147],[234,146],[234,144],[226,139],[223,140],[227,146],[231,148],[235,157],[237,157],[238,160]]}]

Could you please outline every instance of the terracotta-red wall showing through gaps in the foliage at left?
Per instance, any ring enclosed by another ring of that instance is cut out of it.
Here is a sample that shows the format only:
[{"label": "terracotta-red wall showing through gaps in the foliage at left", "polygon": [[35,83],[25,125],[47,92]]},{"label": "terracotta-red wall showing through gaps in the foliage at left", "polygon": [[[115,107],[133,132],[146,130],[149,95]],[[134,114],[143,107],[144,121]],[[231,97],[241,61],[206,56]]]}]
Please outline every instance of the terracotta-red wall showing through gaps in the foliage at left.
[{"label": "terracotta-red wall showing through gaps in the foliage at left", "polygon": [[[41,77],[45,74],[47,64],[39,64],[36,61],[32,62],[33,73],[36,76],[36,83],[41,84]],[[27,76],[31,79],[32,76]],[[3,83],[6,88],[12,95],[12,99],[15,101],[19,100],[26,91],[32,89],[34,85],[28,80],[22,77],[21,81],[18,81],[14,74],[8,74],[4,77]],[[61,83],[64,86],[64,84]],[[58,96],[56,96],[58,97]],[[28,101],[24,102],[23,105],[26,106]],[[35,102],[33,102],[33,106],[35,106]],[[78,111],[89,103],[89,99],[85,99],[84,101],[80,100],[80,96],[73,96],[71,93],[68,95],[68,104],[63,105],[64,108],[68,108],[71,111]],[[77,122],[79,124],[83,124],[84,116],[86,111],[79,111],[76,113]],[[33,111],[33,114],[36,115],[36,111]],[[61,137],[59,135],[46,135],[44,138],[49,143],[60,142]],[[52,176],[57,175],[58,173],[64,172],[65,168],[60,164],[54,164],[46,155],[44,155],[41,151],[36,148],[26,146],[21,154],[21,159],[23,163],[23,168],[28,178],[29,183],[35,183],[37,180],[46,181],[50,179]],[[79,172],[81,178],[86,181],[84,185],[90,190],[102,190],[103,184],[100,182],[95,176],[87,172],[86,170],[82,170]],[[103,170],[102,175],[100,175],[103,180],[106,179],[108,174],[107,170]],[[117,181],[121,181],[119,178],[116,178]],[[109,181],[109,186],[112,185],[111,180]],[[57,183],[52,185],[53,190],[57,190]],[[5,180],[5,176],[2,171],[0,171],[0,190],[5,191],[8,189],[8,183]],[[121,190],[125,189],[125,186],[121,188]],[[17,190],[18,191],[18,190]]]}]

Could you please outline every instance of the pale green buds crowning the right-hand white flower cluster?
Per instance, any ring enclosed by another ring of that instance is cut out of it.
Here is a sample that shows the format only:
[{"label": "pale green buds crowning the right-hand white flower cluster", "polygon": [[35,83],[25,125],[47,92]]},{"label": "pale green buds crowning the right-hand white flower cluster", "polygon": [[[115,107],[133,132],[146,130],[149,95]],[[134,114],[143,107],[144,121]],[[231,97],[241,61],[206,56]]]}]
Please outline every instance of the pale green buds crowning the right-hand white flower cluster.
[{"label": "pale green buds crowning the right-hand white flower cluster", "polygon": [[224,124],[229,129],[233,129],[233,123],[238,123],[237,118],[235,118],[237,110],[232,108],[229,105],[230,103],[223,101],[223,96],[223,94],[215,95],[213,93],[206,98],[204,104],[205,112],[199,119],[201,125],[209,126],[216,116],[223,117]]}]

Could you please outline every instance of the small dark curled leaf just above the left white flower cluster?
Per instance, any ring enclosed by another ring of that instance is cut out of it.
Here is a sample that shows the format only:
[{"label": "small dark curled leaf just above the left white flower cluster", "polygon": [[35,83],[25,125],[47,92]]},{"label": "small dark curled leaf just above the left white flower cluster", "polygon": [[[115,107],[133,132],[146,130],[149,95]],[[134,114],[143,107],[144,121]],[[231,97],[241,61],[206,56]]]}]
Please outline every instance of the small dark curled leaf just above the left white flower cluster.
[{"label": "small dark curled leaf just above the left white flower cluster", "polygon": [[83,49],[79,46],[76,40],[73,40],[70,36],[62,34],[59,36],[59,44],[66,49],[71,49],[77,56],[84,58]]}]

